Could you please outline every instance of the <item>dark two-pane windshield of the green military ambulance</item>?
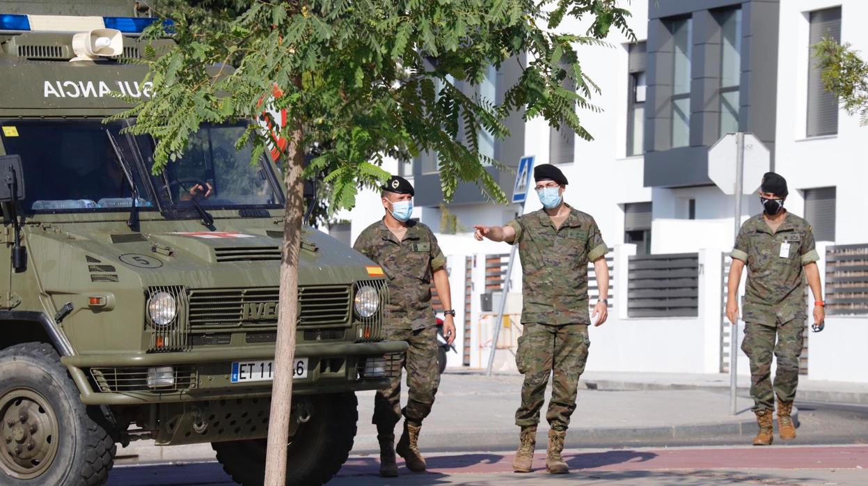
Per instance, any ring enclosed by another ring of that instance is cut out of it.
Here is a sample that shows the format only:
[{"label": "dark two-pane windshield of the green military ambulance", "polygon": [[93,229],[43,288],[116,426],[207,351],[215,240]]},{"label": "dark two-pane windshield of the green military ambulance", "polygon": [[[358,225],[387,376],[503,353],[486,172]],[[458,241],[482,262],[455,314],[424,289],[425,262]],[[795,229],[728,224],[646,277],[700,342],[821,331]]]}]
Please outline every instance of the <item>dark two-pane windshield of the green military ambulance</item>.
[{"label": "dark two-pane windshield of the green military ambulance", "polygon": [[[160,175],[150,174],[154,141],[122,134],[126,121],[0,120],[0,125],[5,153],[21,156],[28,213],[126,212],[133,205],[132,184],[135,206],[145,211],[194,209],[194,198],[211,209],[282,204],[270,168],[262,162],[252,166],[249,148],[234,148],[243,125],[202,127],[184,156]],[[186,214],[181,211],[181,217]]]}]

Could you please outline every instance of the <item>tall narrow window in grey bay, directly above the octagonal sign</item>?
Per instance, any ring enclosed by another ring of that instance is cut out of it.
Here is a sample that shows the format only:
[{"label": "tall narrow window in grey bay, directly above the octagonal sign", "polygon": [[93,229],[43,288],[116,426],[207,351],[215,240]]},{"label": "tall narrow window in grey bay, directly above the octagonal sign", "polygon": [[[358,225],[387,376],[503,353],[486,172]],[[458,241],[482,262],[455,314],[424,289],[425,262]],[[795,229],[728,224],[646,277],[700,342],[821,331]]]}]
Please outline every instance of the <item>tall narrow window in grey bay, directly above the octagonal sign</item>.
[{"label": "tall narrow window in grey bay, directly above the octagonal sign", "polygon": [[720,134],[739,131],[741,9],[715,14],[720,24]]}]

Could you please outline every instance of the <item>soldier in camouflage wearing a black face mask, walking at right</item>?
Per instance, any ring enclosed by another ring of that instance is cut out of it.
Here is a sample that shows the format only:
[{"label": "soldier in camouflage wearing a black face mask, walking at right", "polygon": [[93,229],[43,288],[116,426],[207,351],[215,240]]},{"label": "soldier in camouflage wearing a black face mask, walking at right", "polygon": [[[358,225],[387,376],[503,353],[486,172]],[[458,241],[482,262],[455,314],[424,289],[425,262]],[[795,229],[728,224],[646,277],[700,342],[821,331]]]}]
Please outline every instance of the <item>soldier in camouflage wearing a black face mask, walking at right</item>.
[{"label": "soldier in camouflage wearing a black face mask, walking at right", "polygon": [[[799,384],[799,356],[807,319],[806,279],[816,301],[814,322],[821,324],[825,317],[812,228],[806,220],[784,209],[787,194],[783,177],[773,172],[763,176],[759,197],[764,211],[741,226],[727,282],[727,317],[734,324],[739,317],[736,292],[741,271],[747,265],[746,324],[741,349],[750,359],[753,411],[759,424],[753,445],[773,441],[775,394],[780,438],[796,437],[790,414]],[[774,384],[772,353],[778,358]]]}]

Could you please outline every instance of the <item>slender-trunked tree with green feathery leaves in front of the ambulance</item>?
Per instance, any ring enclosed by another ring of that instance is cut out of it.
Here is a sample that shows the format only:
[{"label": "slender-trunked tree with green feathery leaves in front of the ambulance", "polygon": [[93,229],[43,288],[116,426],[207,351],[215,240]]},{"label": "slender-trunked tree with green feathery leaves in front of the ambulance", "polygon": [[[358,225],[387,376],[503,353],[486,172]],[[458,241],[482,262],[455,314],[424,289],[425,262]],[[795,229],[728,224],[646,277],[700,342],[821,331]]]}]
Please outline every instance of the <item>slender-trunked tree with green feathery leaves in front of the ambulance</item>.
[{"label": "slender-trunked tree with green feathery leaves in front of the ambulance", "polygon": [[[376,187],[387,157],[437,154],[444,197],[461,181],[490,200],[506,198],[487,167],[503,168],[479,153],[477,136],[509,135],[513,112],[565,124],[591,135],[576,108],[596,109],[599,88],[582,71],[576,48],[601,45],[611,28],[634,38],[628,10],[616,0],[199,0],[165,3],[174,21],[174,47],[146,49],[154,96],[122,114],[131,131],[157,141],[154,171],[183,153],[203,123],[249,120],[239,147],[266,153],[269,135],[255,121],[263,101],[286,110],[279,136],[286,181],[284,247],[279,290],[276,360],[288,369],[295,347],[302,233],[302,184],[325,174],[330,209],[352,207],[359,187]],[[161,3],[162,4],[162,3]],[[580,19],[585,32],[564,31]],[[154,25],[146,34],[163,35]],[[521,76],[503,102],[470,97],[449,79],[483,81],[490,66],[520,62]],[[575,89],[565,89],[572,86]],[[280,95],[273,97],[274,89]],[[270,115],[265,115],[271,120]],[[459,133],[464,137],[459,138]],[[304,166],[305,155],[315,153]],[[266,484],[283,484],[292,378],[278,373],[268,430]]]}]

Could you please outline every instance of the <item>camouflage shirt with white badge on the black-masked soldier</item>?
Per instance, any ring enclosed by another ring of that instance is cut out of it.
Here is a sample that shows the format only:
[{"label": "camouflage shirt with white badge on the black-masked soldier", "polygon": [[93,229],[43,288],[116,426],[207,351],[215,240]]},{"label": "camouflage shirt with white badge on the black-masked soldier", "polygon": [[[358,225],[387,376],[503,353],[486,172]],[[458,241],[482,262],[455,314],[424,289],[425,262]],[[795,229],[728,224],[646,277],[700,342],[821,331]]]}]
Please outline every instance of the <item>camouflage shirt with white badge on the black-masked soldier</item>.
[{"label": "camouflage shirt with white badge on the black-masked soldier", "polygon": [[807,318],[802,268],[819,255],[806,220],[786,213],[773,232],[762,214],[754,216],[741,225],[730,256],[747,264],[745,322],[777,325]]}]

